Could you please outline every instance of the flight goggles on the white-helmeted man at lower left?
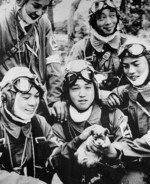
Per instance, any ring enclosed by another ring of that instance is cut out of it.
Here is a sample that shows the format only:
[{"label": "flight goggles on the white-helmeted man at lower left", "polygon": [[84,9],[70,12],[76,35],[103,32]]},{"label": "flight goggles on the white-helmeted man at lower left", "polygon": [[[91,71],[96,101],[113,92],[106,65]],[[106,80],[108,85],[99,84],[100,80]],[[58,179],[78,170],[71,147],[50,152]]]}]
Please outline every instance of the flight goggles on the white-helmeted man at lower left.
[{"label": "flight goggles on the white-helmeted man at lower left", "polygon": [[37,77],[18,77],[17,79],[12,81],[11,86],[14,88],[15,91],[23,94],[29,93],[32,87],[37,88],[40,93],[44,93],[42,85]]}]

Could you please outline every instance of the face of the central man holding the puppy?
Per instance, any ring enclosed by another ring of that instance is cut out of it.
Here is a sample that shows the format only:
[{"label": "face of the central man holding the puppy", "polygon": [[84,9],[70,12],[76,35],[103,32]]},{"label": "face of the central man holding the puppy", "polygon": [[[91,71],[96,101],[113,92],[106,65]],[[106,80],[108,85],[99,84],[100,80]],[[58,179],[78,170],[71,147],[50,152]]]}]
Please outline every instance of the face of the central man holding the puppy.
[{"label": "face of the central man holding the puppy", "polygon": [[94,84],[86,82],[83,79],[77,79],[75,84],[69,88],[69,95],[77,110],[84,111],[88,109],[94,101]]}]

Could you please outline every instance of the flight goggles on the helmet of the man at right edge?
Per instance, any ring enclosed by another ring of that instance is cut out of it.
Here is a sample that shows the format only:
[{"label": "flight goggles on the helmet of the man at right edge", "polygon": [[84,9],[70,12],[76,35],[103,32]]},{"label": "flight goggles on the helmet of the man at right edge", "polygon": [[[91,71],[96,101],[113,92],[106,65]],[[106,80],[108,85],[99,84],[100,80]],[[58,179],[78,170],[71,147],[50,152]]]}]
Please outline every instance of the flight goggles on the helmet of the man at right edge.
[{"label": "flight goggles on the helmet of the man at right edge", "polygon": [[119,57],[129,56],[137,58],[145,54],[150,54],[150,52],[140,43],[133,43],[125,46],[122,45],[118,51]]}]

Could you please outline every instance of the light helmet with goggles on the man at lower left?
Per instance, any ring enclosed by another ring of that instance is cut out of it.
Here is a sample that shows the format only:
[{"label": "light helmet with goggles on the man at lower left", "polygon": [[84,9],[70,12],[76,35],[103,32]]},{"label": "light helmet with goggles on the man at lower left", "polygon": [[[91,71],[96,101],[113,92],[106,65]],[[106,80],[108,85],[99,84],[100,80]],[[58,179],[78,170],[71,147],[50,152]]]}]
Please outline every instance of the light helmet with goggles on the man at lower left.
[{"label": "light helmet with goggles on the man at lower left", "polygon": [[0,83],[2,103],[6,103],[8,110],[13,107],[17,92],[28,93],[34,86],[43,96],[44,90],[37,76],[30,72],[27,67],[13,67],[5,74]]}]

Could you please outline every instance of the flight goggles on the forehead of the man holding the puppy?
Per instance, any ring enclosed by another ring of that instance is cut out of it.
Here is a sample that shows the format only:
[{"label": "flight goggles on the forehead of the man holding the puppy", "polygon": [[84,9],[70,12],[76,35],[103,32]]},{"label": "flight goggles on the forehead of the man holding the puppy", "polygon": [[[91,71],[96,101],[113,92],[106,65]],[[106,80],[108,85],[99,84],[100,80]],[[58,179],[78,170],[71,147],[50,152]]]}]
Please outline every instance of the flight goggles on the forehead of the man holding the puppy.
[{"label": "flight goggles on the forehead of the man holding the puppy", "polygon": [[85,68],[79,72],[72,72],[69,71],[65,75],[65,80],[68,84],[73,84],[79,77],[81,77],[83,80],[87,82],[92,82],[94,79],[94,71],[90,68]]}]

